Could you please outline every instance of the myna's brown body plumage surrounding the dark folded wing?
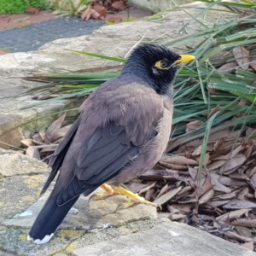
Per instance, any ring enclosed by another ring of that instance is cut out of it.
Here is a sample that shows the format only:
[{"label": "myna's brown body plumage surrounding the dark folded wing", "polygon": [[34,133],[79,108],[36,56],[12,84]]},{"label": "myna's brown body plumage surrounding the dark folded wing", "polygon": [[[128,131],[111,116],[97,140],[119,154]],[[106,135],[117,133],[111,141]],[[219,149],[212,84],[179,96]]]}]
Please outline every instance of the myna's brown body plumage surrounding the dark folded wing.
[{"label": "myna's brown body plumage surrounding the dark folded wing", "polygon": [[[111,84],[104,84],[84,102],[80,108],[77,136],[67,151],[68,157],[63,162],[65,167],[61,172],[70,172],[78,162],[84,141],[96,129],[109,124],[123,127],[126,139],[139,147],[137,154],[132,156],[132,163],[109,180],[109,184],[119,186],[128,182],[160,160],[171,133],[172,98],[160,96],[143,84],[137,85],[119,85],[113,90]],[[90,157],[100,160],[97,155]]]}]

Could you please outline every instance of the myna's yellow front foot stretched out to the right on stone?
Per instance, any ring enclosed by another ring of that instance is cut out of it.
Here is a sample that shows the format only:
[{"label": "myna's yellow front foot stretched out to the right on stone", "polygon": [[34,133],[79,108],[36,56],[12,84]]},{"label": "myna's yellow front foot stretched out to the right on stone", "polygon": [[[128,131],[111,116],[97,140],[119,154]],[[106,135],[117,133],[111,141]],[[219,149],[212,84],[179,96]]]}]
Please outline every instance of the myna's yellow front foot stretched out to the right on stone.
[{"label": "myna's yellow front foot stretched out to the right on stone", "polygon": [[147,201],[142,196],[139,196],[139,195],[137,195],[129,190],[126,190],[122,187],[115,188],[114,191],[119,192],[119,194],[126,195],[127,197],[129,197],[131,199],[130,201],[120,203],[118,205],[118,207],[116,208],[116,210],[125,209],[125,208],[131,207],[132,205],[138,204],[138,203],[143,203],[143,204],[146,204],[146,205],[152,206],[152,207],[160,207],[158,204],[155,204],[151,201]]}]

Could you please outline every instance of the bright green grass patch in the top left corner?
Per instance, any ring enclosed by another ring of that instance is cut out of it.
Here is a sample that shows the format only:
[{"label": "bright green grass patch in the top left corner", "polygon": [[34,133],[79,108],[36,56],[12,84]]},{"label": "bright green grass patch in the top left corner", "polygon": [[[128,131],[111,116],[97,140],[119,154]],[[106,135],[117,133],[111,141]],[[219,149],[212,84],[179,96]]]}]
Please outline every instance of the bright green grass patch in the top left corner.
[{"label": "bright green grass patch in the top left corner", "polygon": [[39,10],[49,9],[48,0],[1,0],[0,14],[23,14],[26,13],[26,7],[32,6]]}]

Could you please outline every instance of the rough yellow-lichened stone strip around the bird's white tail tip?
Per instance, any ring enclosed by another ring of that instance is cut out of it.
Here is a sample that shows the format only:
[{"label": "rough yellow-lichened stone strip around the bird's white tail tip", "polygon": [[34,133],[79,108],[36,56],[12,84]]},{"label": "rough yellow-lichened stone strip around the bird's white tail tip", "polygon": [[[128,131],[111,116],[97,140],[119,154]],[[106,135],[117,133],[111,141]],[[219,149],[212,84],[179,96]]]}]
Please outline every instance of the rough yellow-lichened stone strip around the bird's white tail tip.
[{"label": "rough yellow-lichened stone strip around the bird's white tail tip", "polygon": [[[57,230],[55,237],[48,243],[37,245],[26,241],[28,229],[0,226],[0,252],[14,253],[20,256],[71,256],[74,249],[84,245],[109,241],[114,237],[125,236],[151,229],[161,220],[139,220],[117,228],[95,230]],[[84,255],[89,255],[85,253]],[[2,255],[1,255],[2,256]]]}]

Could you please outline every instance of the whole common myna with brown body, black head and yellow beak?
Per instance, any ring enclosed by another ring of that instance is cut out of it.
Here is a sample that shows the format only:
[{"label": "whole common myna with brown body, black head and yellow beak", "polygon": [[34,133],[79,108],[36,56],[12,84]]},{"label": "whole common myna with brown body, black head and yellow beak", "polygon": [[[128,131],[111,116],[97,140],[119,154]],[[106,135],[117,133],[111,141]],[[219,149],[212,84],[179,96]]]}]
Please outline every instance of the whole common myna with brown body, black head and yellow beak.
[{"label": "whole common myna with brown body, black head and yellow beak", "polygon": [[172,83],[177,66],[192,60],[194,56],[177,55],[163,46],[142,44],[119,77],[86,99],[49,161],[52,171],[41,194],[60,173],[27,240],[49,241],[79,195],[99,186],[106,193],[95,199],[123,194],[131,199],[126,207],[154,205],[120,184],[152,168],[165,152],[172,125]]}]

